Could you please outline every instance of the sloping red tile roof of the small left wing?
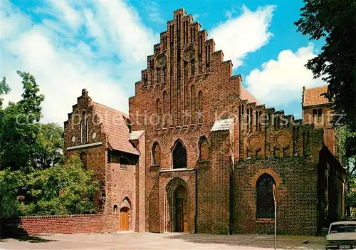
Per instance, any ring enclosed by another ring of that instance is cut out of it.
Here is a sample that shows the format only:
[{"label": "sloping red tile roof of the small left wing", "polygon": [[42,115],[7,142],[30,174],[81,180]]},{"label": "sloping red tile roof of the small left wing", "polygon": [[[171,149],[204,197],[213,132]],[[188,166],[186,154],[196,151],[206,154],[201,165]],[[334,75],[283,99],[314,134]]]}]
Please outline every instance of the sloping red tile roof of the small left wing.
[{"label": "sloping red tile roof of the small left wing", "polygon": [[124,119],[128,118],[128,115],[100,103],[92,101],[91,104],[100,123],[103,124],[104,132],[108,135],[110,146],[114,150],[139,155],[139,152],[129,142],[130,130]]}]

